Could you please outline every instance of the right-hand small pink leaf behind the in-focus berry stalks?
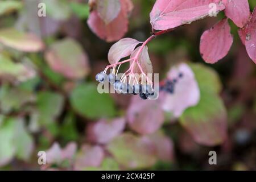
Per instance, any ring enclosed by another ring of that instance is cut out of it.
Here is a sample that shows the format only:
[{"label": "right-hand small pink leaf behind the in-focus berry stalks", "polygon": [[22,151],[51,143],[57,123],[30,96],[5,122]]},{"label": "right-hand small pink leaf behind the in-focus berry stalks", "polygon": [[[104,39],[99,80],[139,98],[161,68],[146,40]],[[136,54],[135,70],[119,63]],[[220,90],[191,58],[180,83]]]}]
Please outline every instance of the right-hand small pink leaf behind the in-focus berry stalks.
[{"label": "right-hand small pink leaf behind the in-focus berry stalks", "polygon": [[[139,51],[139,49],[141,48],[141,46],[140,47],[138,47],[137,49],[135,49],[134,51],[133,51],[133,53],[131,53],[131,59],[132,58],[134,58],[136,55],[137,55],[137,53],[138,53],[138,51]],[[138,59],[138,63],[139,64],[141,64],[141,67],[142,67],[142,70],[143,70],[143,72],[145,73],[145,74],[147,74],[147,73],[153,73],[153,67],[152,67],[152,63],[151,63],[151,60],[150,60],[150,57],[149,57],[149,55],[148,55],[148,48],[147,48],[147,46],[145,46],[144,48],[143,48],[143,50],[142,50],[142,53],[141,53],[141,55],[139,55],[139,59]],[[132,63],[131,63],[132,64]],[[134,65],[134,73],[138,73],[138,74],[141,74],[142,72],[141,72],[141,69],[139,69],[139,66],[138,66],[138,64],[136,64],[135,63],[135,65]],[[145,79],[146,80],[146,79]]]}]

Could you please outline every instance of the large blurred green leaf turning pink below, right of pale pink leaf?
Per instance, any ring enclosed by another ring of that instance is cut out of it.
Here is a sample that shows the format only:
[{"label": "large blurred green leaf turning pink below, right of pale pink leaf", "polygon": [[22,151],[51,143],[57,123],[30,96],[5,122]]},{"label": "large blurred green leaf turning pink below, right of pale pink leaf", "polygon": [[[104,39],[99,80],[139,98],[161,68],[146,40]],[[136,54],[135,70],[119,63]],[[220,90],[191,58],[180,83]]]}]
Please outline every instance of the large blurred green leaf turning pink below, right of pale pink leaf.
[{"label": "large blurred green leaf turning pink below, right of pale pink leaf", "polygon": [[185,110],[180,123],[197,143],[214,146],[226,139],[226,108],[221,98],[211,90],[201,90],[199,104]]}]

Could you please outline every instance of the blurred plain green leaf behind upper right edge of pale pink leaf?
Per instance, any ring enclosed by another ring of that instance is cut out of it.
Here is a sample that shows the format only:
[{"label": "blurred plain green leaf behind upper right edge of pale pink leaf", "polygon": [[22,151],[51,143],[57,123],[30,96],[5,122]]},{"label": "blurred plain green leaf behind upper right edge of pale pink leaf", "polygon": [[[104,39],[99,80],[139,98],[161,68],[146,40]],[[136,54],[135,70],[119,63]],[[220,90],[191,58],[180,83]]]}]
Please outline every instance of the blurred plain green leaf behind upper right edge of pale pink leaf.
[{"label": "blurred plain green leaf behind upper right edge of pale pink leaf", "polygon": [[191,63],[189,66],[195,73],[200,90],[212,90],[214,93],[220,93],[222,89],[221,81],[214,69],[200,63]]}]

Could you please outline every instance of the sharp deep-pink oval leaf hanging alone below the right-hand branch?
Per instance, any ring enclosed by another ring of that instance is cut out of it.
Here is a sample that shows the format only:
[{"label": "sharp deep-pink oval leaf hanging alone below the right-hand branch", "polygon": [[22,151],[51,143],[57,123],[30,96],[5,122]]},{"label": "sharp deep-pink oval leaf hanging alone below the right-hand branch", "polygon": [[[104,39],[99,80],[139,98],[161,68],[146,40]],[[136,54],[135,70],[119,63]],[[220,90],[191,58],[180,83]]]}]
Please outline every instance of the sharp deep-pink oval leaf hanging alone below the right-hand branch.
[{"label": "sharp deep-pink oval leaf hanging alone below the right-hand branch", "polygon": [[205,62],[213,64],[228,54],[232,43],[228,19],[222,19],[201,36],[200,52]]}]

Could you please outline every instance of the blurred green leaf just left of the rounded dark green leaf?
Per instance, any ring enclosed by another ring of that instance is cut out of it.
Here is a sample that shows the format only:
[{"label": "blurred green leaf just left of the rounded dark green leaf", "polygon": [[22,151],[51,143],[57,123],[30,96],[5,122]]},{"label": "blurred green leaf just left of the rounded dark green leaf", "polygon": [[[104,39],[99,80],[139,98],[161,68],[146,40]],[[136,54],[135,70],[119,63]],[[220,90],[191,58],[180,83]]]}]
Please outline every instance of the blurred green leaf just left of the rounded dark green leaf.
[{"label": "blurred green leaf just left of the rounded dark green leaf", "polygon": [[39,112],[39,122],[50,124],[63,109],[64,98],[61,94],[43,91],[38,93],[36,106]]}]

